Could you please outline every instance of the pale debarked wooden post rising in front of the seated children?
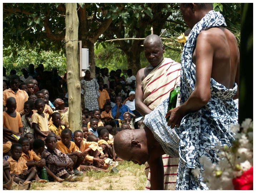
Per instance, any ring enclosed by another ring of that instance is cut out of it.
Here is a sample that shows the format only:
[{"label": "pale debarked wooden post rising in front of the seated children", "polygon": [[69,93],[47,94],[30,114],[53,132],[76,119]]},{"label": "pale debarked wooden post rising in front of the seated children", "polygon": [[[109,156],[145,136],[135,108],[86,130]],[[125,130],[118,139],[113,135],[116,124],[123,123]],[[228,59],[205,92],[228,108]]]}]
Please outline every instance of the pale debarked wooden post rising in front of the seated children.
[{"label": "pale debarked wooden post rising in front of the seated children", "polygon": [[69,128],[72,132],[82,130],[81,87],[78,65],[78,16],[77,4],[66,4],[65,47],[67,57],[67,85],[69,104]]}]

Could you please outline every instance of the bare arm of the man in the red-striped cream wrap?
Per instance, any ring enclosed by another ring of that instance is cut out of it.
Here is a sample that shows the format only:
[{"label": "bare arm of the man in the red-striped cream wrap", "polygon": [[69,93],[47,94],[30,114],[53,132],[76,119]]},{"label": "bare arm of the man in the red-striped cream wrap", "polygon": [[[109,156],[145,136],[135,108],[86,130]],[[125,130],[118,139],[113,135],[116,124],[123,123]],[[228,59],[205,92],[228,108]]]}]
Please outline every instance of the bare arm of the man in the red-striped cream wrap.
[{"label": "bare arm of the man in the red-striped cream wrap", "polygon": [[141,82],[143,80],[143,76],[144,76],[144,69],[142,68],[141,70],[138,71],[137,75],[136,75],[136,90],[135,90],[135,107],[136,110],[141,113],[141,115],[145,116],[147,114],[149,114],[152,110],[150,108],[147,107],[147,105],[145,105],[143,103],[144,99],[143,99],[143,88],[141,85]]}]

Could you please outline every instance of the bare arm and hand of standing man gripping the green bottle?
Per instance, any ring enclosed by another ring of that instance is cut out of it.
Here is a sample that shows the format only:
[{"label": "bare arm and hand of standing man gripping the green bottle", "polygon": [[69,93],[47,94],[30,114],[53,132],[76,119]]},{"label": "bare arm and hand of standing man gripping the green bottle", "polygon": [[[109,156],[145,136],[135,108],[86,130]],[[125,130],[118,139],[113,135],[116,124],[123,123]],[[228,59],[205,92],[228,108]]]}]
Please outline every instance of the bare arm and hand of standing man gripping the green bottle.
[{"label": "bare arm and hand of standing man gripping the green bottle", "polygon": [[[201,34],[200,34],[201,35]],[[189,112],[195,112],[207,105],[211,98],[210,80],[212,72],[212,60],[215,53],[211,42],[207,41],[207,35],[198,36],[196,45],[196,83],[195,90],[188,100],[181,106],[170,110],[166,117],[170,116],[168,126],[179,127],[181,120]]]}]

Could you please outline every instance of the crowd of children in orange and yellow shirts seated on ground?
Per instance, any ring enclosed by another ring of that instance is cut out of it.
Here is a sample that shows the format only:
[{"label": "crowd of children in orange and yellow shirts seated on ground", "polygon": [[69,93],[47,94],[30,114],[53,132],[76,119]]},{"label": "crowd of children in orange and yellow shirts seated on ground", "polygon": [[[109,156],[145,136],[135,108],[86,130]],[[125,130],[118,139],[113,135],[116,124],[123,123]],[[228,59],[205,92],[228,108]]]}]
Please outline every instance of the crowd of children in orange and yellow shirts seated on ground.
[{"label": "crowd of children in orange and yellow shirts seated on ground", "polygon": [[[113,117],[113,107],[106,103],[93,111],[83,108],[82,130],[72,133],[69,108],[63,98],[50,101],[49,91],[39,90],[35,79],[22,82],[17,75],[10,76],[3,85],[5,189],[13,183],[31,184],[33,180],[75,181],[75,176],[86,170],[109,172],[109,160],[122,161],[114,151],[115,134],[122,129],[137,129],[143,123],[143,119],[135,122],[132,111]],[[43,168],[48,179],[42,177]]]}]

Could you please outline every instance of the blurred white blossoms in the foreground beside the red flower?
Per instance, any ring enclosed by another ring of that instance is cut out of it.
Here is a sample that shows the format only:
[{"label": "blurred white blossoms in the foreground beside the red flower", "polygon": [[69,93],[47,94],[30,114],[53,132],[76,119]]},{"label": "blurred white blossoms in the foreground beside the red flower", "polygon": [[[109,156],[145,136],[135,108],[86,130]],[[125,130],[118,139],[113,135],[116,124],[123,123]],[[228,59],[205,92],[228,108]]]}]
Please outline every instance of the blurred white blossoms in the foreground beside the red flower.
[{"label": "blurred white blossoms in the foreground beside the red flower", "polygon": [[[211,190],[233,190],[232,179],[241,176],[253,166],[253,121],[246,119],[241,127],[240,133],[239,124],[230,127],[236,139],[231,148],[217,147],[220,149],[220,153],[217,153],[220,157],[218,165],[212,164],[210,159],[200,159],[205,169],[202,173],[203,179]],[[192,173],[196,175],[199,171],[195,169]]]}]

